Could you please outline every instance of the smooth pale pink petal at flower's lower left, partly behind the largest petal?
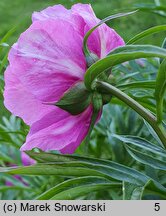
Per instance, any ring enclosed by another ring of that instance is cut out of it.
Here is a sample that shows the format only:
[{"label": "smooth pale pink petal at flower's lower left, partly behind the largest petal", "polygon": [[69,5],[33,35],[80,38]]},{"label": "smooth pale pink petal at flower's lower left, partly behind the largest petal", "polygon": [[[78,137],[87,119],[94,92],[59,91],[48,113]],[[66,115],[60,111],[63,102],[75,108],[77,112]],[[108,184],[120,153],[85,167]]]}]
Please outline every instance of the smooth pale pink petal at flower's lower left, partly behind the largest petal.
[{"label": "smooth pale pink petal at flower's lower left, partly behind the largest petal", "polygon": [[36,100],[15,76],[10,66],[5,72],[4,104],[8,110],[29,125],[55,109]]}]

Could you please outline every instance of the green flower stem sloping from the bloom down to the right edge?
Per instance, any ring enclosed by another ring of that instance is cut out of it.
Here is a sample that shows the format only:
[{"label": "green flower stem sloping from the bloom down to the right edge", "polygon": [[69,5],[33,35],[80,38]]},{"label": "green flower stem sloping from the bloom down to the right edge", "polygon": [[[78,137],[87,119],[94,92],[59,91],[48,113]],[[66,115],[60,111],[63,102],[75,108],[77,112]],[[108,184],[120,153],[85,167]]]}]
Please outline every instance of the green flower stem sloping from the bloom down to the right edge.
[{"label": "green flower stem sloping from the bloom down to the right edge", "polygon": [[152,128],[155,130],[156,134],[160,138],[162,144],[166,148],[166,132],[161,124],[157,124],[157,119],[151,112],[145,109],[137,101],[129,97],[127,94],[125,94],[124,92],[122,92],[121,90],[117,89],[109,83],[96,81],[96,88],[98,91],[104,91],[112,94],[113,96],[117,97],[118,99],[126,103],[133,110],[135,110],[152,126]]}]

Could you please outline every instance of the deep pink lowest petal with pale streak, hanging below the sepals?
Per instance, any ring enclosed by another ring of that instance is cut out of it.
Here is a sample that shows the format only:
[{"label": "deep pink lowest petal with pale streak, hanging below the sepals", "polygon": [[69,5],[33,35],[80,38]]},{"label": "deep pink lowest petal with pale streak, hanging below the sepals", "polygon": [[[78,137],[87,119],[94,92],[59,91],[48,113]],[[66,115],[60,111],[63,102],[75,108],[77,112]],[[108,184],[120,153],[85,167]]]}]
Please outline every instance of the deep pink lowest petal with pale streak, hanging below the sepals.
[{"label": "deep pink lowest petal with pale streak, hanging below the sepals", "polygon": [[77,116],[56,108],[56,111],[32,125],[21,150],[37,147],[43,151],[74,152],[88,133],[91,115],[91,106]]}]

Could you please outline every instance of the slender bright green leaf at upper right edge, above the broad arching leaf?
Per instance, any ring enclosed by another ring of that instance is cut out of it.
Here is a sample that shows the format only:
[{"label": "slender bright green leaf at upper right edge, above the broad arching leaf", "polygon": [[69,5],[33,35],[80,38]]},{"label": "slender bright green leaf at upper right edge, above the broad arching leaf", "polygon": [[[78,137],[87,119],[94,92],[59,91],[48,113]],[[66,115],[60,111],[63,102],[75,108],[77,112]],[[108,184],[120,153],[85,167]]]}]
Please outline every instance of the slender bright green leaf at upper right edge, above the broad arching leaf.
[{"label": "slender bright green leaf at upper right edge, above the broad arching leaf", "polygon": [[162,31],[166,31],[166,25],[154,26],[152,28],[149,28],[149,29],[135,35],[126,44],[134,44],[135,42],[143,39],[144,37],[147,37],[147,36],[152,35],[152,34],[160,33]]}]

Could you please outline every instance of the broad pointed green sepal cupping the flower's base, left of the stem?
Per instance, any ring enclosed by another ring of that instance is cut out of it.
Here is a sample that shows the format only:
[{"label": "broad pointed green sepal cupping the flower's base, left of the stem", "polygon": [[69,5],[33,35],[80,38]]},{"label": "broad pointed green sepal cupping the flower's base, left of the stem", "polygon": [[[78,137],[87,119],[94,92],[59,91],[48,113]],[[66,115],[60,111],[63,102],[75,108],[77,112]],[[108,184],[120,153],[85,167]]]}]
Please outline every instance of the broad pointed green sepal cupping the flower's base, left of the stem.
[{"label": "broad pointed green sepal cupping the flower's base, left of the stem", "polygon": [[74,84],[55,104],[72,115],[82,113],[91,103],[91,92],[83,82]]}]

